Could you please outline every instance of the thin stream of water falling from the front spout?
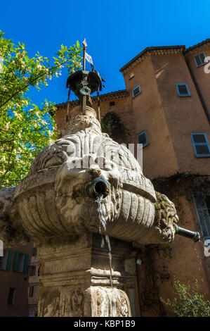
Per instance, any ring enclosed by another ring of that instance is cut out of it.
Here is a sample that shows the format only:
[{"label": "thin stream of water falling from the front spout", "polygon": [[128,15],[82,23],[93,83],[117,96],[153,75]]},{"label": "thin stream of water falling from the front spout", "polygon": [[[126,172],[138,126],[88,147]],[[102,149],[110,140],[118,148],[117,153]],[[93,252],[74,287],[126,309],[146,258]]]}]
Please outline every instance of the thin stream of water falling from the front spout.
[{"label": "thin stream of water falling from the front spout", "polygon": [[[103,195],[98,196],[97,202],[98,202],[98,214],[99,214],[99,220],[101,225],[103,226],[103,230],[106,231],[106,220],[105,217],[103,216],[103,209],[102,209],[102,200],[103,200]],[[101,232],[101,227],[99,227],[99,233],[101,235],[101,243],[100,243],[100,247],[104,248],[104,239],[103,239],[103,234]],[[111,287],[113,288],[113,282],[112,282],[112,249],[111,249],[111,245],[110,245],[110,237],[108,235],[105,235],[105,239],[107,242],[107,246],[109,249],[109,259],[110,259],[110,284]]]}]

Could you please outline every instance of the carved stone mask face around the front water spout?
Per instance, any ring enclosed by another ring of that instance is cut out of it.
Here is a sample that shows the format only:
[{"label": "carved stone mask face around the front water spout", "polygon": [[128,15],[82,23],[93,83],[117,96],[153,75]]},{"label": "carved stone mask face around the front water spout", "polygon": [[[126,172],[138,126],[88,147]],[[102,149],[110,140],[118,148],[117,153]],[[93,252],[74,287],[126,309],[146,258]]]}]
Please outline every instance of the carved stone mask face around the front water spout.
[{"label": "carved stone mask face around the front water spout", "polygon": [[[100,168],[100,164],[103,167]],[[88,182],[96,177],[110,183],[110,194],[103,199],[102,209],[105,221],[113,221],[119,213],[122,196],[122,180],[116,164],[105,162],[103,157],[98,161],[96,155],[88,154],[83,158],[68,158],[56,176],[55,202],[58,211],[77,233],[84,229],[98,232],[101,227],[98,202],[88,197],[85,190]]]}]

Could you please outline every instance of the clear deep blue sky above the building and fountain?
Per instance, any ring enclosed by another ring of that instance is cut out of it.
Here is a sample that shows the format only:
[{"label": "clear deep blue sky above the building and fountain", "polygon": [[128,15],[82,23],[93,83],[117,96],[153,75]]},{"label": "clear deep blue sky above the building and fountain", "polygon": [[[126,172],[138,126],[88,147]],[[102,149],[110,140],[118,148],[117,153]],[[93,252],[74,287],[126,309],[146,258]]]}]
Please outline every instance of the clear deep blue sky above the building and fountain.
[{"label": "clear deep blue sky above the building and fountain", "polygon": [[[94,68],[106,80],[102,93],[124,89],[119,68],[147,46],[192,46],[210,38],[210,0],[60,0],[1,1],[0,30],[25,43],[29,56],[39,51],[51,59],[61,44],[81,43]],[[29,96],[40,105],[67,100],[67,70]],[[71,99],[75,99],[71,96]]]}]

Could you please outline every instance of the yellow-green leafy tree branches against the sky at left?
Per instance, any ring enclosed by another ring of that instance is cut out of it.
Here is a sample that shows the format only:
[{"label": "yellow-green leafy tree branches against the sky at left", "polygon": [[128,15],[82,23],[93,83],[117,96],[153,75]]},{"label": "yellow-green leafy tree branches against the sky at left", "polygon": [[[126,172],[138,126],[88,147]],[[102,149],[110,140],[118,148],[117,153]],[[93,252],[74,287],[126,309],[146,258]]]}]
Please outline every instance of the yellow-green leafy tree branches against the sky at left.
[{"label": "yellow-green leafy tree branches against the sky at left", "polygon": [[46,99],[41,108],[27,96],[30,87],[40,89],[52,77],[81,68],[81,47],[61,45],[53,65],[39,52],[30,58],[25,44],[12,43],[0,31],[0,188],[11,187],[25,177],[35,156],[55,138],[55,122]]}]

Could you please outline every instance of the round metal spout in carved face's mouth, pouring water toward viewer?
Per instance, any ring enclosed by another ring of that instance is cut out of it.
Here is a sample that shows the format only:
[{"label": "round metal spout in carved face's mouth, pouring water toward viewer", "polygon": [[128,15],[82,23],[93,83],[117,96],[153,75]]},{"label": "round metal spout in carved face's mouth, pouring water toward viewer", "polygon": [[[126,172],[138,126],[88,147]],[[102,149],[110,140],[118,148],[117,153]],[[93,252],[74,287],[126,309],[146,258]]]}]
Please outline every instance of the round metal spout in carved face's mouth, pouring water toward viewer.
[{"label": "round metal spout in carved face's mouth, pouring water toward viewer", "polygon": [[85,187],[86,194],[92,199],[97,199],[98,196],[103,196],[104,199],[110,194],[110,189],[110,183],[103,178],[96,178],[95,180],[88,182]]}]

